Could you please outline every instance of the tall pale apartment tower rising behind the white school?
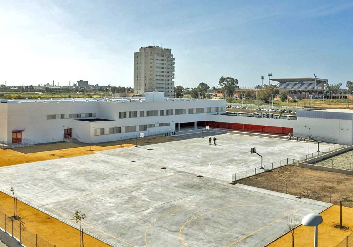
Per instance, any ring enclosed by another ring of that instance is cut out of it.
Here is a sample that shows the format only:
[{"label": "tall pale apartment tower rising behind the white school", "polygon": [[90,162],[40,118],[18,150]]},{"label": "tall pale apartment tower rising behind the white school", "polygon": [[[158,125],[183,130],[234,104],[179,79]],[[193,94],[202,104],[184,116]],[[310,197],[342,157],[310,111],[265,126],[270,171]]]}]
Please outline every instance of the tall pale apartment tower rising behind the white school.
[{"label": "tall pale apartment tower rising behind the white school", "polygon": [[141,47],[134,53],[133,91],[145,96],[145,92],[164,92],[174,97],[174,58],[172,49],[158,46]]}]

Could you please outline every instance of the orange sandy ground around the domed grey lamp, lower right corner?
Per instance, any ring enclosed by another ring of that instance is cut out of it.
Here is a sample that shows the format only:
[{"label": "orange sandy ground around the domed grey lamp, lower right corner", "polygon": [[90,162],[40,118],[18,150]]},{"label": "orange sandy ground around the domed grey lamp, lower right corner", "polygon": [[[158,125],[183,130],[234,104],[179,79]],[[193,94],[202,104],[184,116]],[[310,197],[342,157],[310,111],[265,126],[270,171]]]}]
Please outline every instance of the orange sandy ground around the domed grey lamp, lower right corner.
[{"label": "orange sandy ground around the domed grey lamp, lower right corner", "polygon": [[[318,246],[333,247],[353,232],[353,209],[350,207],[342,207],[342,225],[349,227],[347,230],[333,228],[334,225],[340,224],[340,206],[333,205],[329,209],[320,213],[323,223],[318,227]],[[301,219],[298,219],[299,222]],[[289,228],[288,228],[289,230]],[[351,236],[353,237],[353,235]],[[352,241],[352,240],[351,240]],[[300,225],[294,230],[294,246],[307,247],[313,246],[314,227]],[[345,245],[346,246],[346,245]],[[267,245],[267,247],[292,247],[292,234],[287,233],[276,241]]]}]

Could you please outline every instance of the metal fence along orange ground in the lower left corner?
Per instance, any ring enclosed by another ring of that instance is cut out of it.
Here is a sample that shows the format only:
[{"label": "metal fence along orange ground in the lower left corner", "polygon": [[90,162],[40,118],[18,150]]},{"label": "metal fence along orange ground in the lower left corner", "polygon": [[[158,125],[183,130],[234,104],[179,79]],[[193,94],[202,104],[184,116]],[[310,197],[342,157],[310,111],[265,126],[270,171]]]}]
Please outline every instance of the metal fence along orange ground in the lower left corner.
[{"label": "metal fence along orange ground in the lower left corner", "polygon": [[11,220],[2,212],[0,212],[0,228],[26,247],[55,247],[47,240],[26,229],[25,224],[19,220]]}]

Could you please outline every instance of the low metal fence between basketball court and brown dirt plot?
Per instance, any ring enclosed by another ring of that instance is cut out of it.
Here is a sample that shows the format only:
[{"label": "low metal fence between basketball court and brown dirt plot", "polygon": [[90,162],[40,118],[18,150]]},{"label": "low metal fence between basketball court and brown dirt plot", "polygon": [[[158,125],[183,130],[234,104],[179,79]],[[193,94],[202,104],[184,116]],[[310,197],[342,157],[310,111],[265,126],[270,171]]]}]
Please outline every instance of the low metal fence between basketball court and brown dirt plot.
[{"label": "low metal fence between basketball court and brown dirt plot", "polygon": [[245,179],[246,177],[251,177],[256,174],[263,173],[265,171],[270,171],[275,168],[282,167],[284,165],[298,165],[299,160],[298,159],[282,159],[277,162],[272,162],[269,164],[263,165],[264,169],[261,169],[260,167],[255,167],[249,170],[241,171],[239,173],[232,174],[232,182],[235,182],[240,179]]}]

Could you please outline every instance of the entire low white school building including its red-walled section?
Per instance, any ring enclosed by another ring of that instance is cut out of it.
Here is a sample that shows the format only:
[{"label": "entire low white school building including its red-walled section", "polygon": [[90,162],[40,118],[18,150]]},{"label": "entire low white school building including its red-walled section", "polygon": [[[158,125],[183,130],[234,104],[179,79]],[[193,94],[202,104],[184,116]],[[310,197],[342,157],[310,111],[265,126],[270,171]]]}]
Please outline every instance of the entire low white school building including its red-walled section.
[{"label": "entire low white school building including its red-walled section", "polygon": [[187,128],[292,134],[353,144],[353,110],[297,110],[295,120],[234,116],[225,100],[165,98],[76,98],[0,100],[0,144],[40,144],[77,139],[100,143],[178,132]]}]

